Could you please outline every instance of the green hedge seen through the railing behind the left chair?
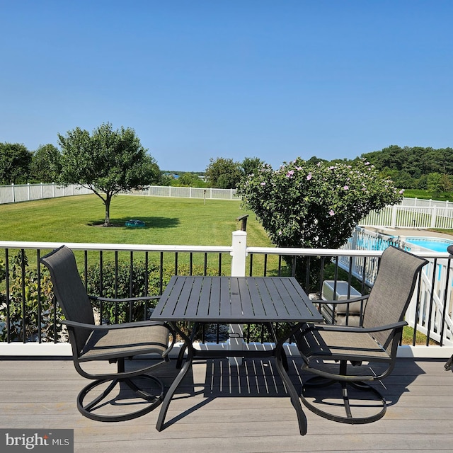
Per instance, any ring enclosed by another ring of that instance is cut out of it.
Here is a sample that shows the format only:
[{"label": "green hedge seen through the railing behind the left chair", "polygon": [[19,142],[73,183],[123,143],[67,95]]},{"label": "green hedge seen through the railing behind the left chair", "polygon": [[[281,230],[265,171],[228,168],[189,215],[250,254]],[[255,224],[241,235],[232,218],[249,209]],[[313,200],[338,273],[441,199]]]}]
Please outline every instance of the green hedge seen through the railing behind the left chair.
[{"label": "green hedge seen through the railing behind the left chair", "polygon": [[[52,282],[47,268],[40,268],[40,287],[38,287],[38,271],[30,268],[28,258],[20,251],[11,258],[9,263],[9,314],[6,304],[6,293],[0,293],[0,341],[8,340],[7,324],[10,330],[11,341],[67,340],[66,329],[62,326],[64,315],[58,304],[55,304]],[[204,275],[202,265],[179,265],[178,274]],[[24,280],[22,280],[22,274]],[[88,294],[101,295],[110,298],[141,297],[145,294],[159,296],[162,287],[174,275],[174,268],[164,268],[161,274],[160,265],[134,261],[132,273],[130,263],[117,263],[107,261],[101,268],[91,265],[88,268],[88,281],[86,282]],[[207,275],[217,275],[216,269],[207,269]],[[117,284],[115,285],[115,277]],[[0,283],[6,278],[6,266],[0,261]],[[128,321],[141,321],[149,319],[156,301],[139,301],[130,304],[103,303],[95,304],[95,314],[102,323],[122,323]],[[54,322],[55,321],[55,322]],[[39,328],[40,326],[40,328]],[[181,324],[181,327],[188,328]]]}]

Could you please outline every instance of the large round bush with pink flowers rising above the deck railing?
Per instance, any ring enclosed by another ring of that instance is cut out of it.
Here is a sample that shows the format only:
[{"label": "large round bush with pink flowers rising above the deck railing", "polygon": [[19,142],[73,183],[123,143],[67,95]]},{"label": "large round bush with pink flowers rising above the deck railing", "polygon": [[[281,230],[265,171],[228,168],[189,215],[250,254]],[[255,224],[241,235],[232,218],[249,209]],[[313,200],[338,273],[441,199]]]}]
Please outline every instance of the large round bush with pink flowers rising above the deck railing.
[{"label": "large round bush with pink flowers rising above the deck railing", "polygon": [[311,164],[300,158],[275,171],[263,166],[238,193],[276,246],[296,248],[343,246],[360,219],[402,198],[367,161]]}]

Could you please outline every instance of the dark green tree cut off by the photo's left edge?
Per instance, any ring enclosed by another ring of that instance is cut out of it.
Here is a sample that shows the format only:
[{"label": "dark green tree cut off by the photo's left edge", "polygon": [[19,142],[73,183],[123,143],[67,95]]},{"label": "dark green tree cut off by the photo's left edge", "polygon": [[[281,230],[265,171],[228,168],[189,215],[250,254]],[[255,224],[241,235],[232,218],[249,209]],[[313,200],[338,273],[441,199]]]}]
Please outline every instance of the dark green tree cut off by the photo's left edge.
[{"label": "dark green tree cut off by the photo's left edge", "polygon": [[32,153],[20,143],[0,143],[0,184],[27,183]]}]

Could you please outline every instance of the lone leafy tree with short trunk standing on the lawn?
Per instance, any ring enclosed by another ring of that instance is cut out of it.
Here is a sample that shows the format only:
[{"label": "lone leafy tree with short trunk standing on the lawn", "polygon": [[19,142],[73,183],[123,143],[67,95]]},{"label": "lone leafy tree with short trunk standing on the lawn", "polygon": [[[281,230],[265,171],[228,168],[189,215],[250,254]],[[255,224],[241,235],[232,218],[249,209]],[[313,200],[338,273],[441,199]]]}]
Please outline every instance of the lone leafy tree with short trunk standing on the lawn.
[{"label": "lone leafy tree with short trunk standing on the lawn", "polygon": [[110,123],[103,123],[91,135],[76,127],[58,138],[62,147],[60,182],[93,190],[105,205],[104,226],[110,226],[110,202],[117,193],[159,180],[159,166],[133,129],[113,130]]}]

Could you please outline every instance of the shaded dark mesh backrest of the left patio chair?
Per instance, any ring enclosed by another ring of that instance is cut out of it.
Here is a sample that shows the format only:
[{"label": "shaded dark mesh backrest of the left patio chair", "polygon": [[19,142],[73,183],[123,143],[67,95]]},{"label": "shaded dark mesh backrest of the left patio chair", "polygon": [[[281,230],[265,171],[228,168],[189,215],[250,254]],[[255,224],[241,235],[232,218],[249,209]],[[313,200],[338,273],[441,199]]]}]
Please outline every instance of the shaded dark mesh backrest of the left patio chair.
[{"label": "shaded dark mesh backrest of the left patio chair", "polygon": [[[71,249],[61,246],[43,256],[40,261],[50,271],[55,297],[62,307],[64,317],[70,321],[94,324],[93,308]],[[89,335],[90,331],[79,329],[76,338],[78,350],[86,343]]]}]

